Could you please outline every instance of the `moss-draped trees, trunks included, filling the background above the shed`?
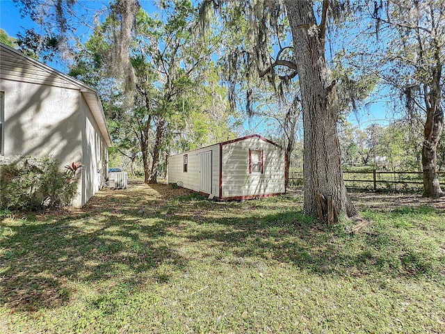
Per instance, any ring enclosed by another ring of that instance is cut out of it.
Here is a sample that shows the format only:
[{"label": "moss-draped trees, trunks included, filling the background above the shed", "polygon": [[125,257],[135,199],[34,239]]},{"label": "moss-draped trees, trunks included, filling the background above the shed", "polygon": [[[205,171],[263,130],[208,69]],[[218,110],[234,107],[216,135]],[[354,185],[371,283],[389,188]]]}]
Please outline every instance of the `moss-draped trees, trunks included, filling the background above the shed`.
[{"label": "moss-draped trees, trunks included, filling the background above the shed", "polygon": [[[156,13],[137,0],[92,10],[76,0],[16,2],[45,27],[17,44],[71,56],[71,74],[101,92],[116,152],[141,159],[146,182],[165,172],[168,154],[232,136],[229,120],[245,113],[266,118],[289,156],[302,127],[307,214],[318,194],[355,214],[342,164],[400,161],[394,145],[423,170],[424,196],[442,196],[442,0],[164,0]],[[76,38],[81,24],[92,31],[86,40]],[[350,112],[359,118],[377,92],[403,118],[354,129]]]}]

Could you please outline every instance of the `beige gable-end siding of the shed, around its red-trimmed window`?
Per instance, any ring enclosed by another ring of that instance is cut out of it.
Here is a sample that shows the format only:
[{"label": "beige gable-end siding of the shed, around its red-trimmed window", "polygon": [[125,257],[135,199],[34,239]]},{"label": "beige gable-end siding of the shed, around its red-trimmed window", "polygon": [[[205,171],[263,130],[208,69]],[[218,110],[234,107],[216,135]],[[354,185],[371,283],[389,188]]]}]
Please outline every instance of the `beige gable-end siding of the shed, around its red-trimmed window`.
[{"label": "beige gable-end siding of the shed, around its red-trimmed window", "polygon": [[[249,149],[263,150],[264,173],[249,173]],[[284,150],[246,138],[223,145],[223,198],[284,193]]]}]

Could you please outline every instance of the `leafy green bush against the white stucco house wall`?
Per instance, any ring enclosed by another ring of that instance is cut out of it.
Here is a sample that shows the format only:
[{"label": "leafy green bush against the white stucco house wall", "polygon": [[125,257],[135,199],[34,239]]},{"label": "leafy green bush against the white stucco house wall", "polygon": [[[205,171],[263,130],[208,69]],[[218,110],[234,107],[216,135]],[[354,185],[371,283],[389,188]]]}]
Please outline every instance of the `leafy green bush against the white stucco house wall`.
[{"label": "leafy green bush against the white stucco house wall", "polygon": [[31,157],[0,161],[0,209],[36,210],[60,207],[71,202],[76,193],[76,176],[80,164],[73,170],[52,157]]}]

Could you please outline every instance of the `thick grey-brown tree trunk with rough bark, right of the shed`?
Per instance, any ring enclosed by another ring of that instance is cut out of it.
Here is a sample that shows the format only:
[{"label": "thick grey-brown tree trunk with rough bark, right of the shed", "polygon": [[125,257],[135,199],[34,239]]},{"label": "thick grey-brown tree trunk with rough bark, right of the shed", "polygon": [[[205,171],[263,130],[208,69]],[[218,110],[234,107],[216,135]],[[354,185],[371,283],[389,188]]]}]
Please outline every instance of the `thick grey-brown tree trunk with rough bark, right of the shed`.
[{"label": "thick grey-brown tree trunk with rough bark, right of the shed", "polygon": [[340,214],[357,214],[343,181],[337,136],[335,87],[327,83],[323,26],[318,26],[312,0],[287,0],[302,95],[305,214],[316,214],[316,193],[330,195]]}]

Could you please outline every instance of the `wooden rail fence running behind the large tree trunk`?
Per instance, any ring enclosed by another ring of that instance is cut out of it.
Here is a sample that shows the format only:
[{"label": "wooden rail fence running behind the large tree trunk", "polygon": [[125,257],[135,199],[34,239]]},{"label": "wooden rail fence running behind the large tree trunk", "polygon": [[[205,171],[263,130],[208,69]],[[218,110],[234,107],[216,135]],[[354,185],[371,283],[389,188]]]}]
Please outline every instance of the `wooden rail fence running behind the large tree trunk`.
[{"label": "wooden rail fence running behind the large tree trunk", "polygon": [[[445,172],[438,172],[439,181],[445,184]],[[380,170],[370,171],[343,171],[343,180],[350,189],[372,189],[372,190],[415,190],[423,187],[422,172],[389,172]],[[289,173],[289,186],[303,184],[301,172]]]}]

